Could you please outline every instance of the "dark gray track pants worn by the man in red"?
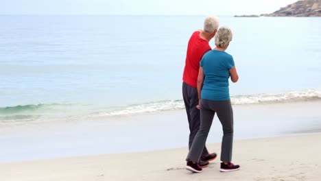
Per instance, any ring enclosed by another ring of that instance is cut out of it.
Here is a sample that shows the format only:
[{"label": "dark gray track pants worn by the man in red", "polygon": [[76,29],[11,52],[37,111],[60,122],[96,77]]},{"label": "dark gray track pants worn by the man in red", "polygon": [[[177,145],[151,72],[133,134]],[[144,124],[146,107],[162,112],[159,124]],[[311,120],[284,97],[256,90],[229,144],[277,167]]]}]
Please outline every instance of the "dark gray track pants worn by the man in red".
[{"label": "dark gray track pants worn by the man in red", "polygon": [[[189,120],[189,149],[191,149],[195,135],[198,130],[200,130],[200,110],[196,108],[198,105],[198,89],[183,82],[182,95],[184,98],[187,119]],[[202,156],[209,155],[209,152],[205,147],[205,143],[201,152]]]}]

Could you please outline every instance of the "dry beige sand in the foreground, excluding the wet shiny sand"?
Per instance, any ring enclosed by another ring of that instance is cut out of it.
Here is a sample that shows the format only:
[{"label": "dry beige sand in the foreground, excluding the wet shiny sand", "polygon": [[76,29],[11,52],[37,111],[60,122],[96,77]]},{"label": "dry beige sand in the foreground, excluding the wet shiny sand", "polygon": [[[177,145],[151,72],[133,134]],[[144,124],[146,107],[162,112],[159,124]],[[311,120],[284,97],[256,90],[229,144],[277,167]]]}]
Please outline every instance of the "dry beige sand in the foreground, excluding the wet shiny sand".
[{"label": "dry beige sand in the foreground, excluding the wet shiny sand", "polygon": [[[241,170],[219,172],[219,158],[202,173],[185,169],[187,148],[0,164],[0,180],[320,180],[321,134],[235,141]],[[219,154],[219,143],[209,149]]]}]

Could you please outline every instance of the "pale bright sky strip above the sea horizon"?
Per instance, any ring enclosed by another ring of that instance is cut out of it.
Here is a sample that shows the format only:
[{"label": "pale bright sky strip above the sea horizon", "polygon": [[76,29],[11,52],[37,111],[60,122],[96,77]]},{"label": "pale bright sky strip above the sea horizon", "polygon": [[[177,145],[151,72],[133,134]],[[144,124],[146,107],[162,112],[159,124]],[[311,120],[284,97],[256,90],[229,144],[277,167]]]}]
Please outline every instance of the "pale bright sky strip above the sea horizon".
[{"label": "pale bright sky strip above the sea horizon", "polygon": [[297,0],[0,0],[0,14],[241,15]]}]

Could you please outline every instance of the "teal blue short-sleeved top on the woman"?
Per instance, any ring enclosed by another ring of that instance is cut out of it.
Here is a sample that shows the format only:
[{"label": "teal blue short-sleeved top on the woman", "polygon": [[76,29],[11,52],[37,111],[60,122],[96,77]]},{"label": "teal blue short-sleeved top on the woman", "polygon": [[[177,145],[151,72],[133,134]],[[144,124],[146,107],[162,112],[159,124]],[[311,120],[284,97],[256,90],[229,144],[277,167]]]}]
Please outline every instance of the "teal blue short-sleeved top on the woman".
[{"label": "teal blue short-sleeved top on the woman", "polygon": [[211,101],[230,100],[228,78],[234,66],[233,56],[225,51],[213,49],[205,53],[200,62],[205,76],[201,98]]}]

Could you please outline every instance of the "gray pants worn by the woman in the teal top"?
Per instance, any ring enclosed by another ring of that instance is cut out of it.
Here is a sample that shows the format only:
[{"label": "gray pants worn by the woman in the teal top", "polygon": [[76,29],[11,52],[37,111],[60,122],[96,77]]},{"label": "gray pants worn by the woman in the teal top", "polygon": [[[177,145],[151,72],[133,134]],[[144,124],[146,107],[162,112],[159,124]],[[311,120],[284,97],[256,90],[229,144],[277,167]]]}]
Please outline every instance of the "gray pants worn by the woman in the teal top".
[{"label": "gray pants worn by the woman in the teal top", "polygon": [[200,108],[200,130],[196,134],[187,160],[200,161],[202,149],[206,143],[206,138],[209,135],[213,118],[217,113],[219,121],[222,123],[223,138],[222,138],[222,162],[230,162],[232,160],[233,149],[233,109],[228,101],[210,101],[201,99]]}]

